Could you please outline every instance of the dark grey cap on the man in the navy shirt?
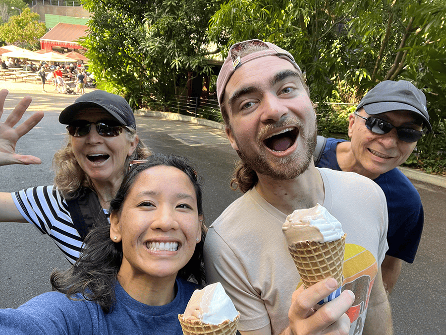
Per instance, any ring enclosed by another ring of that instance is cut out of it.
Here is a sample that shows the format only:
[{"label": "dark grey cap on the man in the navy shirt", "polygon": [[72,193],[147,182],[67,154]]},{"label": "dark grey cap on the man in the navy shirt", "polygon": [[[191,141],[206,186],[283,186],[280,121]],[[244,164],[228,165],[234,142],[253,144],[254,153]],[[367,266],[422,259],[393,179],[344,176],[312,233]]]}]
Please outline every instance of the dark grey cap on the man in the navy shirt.
[{"label": "dark grey cap on the man in the navy shirt", "polygon": [[369,115],[391,111],[410,111],[421,117],[423,124],[432,132],[426,107],[426,96],[406,80],[385,80],[372,88],[359,102],[356,111],[364,108]]}]

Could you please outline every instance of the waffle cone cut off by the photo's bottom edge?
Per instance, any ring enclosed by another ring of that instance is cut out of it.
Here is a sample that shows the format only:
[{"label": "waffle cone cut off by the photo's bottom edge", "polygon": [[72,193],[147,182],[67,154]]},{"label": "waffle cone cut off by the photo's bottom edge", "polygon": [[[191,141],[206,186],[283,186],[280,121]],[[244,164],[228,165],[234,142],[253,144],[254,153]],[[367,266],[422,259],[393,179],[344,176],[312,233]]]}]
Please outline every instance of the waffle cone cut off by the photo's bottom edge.
[{"label": "waffle cone cut off by the photo's bottom edge", "polygon": [[184,335],[235,335],[237,332],[240,313],[233,321],[226,320],[220,325],[204,324],[200,320],[184,320],[182,314],[178,314],[178,320]]}]

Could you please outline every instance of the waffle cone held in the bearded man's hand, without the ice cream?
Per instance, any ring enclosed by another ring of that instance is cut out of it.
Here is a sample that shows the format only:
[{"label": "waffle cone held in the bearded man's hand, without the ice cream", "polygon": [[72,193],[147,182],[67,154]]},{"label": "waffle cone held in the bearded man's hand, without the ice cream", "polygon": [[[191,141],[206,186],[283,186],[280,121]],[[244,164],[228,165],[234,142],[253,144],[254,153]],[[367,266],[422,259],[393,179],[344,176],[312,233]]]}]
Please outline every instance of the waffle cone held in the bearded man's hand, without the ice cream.
[{"label": "waffle cone held in the bearded man's hand, without the ice cream", "polygon": [[332,242],[305,241],[288,247],[305,288],[328,277],[342,286],[345,235]]}]

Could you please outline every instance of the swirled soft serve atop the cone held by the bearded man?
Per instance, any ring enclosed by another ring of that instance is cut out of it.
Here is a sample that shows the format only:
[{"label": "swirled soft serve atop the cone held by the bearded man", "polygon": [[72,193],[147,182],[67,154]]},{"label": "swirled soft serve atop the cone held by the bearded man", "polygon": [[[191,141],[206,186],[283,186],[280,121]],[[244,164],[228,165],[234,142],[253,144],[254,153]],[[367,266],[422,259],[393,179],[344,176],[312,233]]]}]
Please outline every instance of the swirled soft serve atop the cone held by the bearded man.
[{"label": "swirled soft serve atop the cone held by the bearded man", "polygon": [[332,242],[344,236],[340,222],[319,203],[312,208],[297,209],[282,225],[288,246],[297,242]]}]

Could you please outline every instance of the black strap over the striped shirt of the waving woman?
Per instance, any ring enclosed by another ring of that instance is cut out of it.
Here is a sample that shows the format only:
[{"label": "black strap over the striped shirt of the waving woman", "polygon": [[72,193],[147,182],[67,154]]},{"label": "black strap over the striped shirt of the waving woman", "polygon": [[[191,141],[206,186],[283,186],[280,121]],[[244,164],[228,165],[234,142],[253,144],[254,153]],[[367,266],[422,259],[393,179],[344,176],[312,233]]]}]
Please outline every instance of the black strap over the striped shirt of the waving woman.
[{"label": "black strap over the striped shirt of the waving woman", "polygon": [[66,201],[71,220],[82,241],[89,230],[97,225],[109,224],[99,198],[91,189],[82,187],[79,197]]}]

